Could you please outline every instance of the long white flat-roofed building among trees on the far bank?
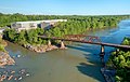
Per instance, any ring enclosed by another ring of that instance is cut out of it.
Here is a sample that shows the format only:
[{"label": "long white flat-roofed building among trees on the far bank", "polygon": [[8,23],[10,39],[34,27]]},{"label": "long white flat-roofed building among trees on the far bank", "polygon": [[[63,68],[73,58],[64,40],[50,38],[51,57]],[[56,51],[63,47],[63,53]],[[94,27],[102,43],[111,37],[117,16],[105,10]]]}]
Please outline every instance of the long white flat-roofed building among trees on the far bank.
[{"label": "long white flat-roofed building among trees on the far bank", "polygon": [[57,22],[67,22],[67,19],[50,19],[50,20],[34,20],[34,22],[15,22],[11,24],[11,28],[21,31],[23,29],[36,29],[38,27],[50,29]]}]

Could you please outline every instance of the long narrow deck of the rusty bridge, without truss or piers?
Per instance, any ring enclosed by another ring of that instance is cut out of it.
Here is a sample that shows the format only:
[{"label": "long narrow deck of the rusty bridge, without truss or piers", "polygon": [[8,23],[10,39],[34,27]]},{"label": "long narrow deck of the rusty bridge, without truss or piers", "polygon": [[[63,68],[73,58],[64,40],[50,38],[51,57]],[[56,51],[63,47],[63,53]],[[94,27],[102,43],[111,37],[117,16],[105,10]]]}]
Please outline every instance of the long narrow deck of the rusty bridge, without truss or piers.
[{"label": "long narrow deck of the rusty bridge, without truss or piers", "polygon": [[80,42],[80,43],[89,43],[89,44],[96,44],[96,45],[105,45],[105,46],[113,46],[113,47],[121,47],[121,49],[129,49],[130,50],[130,45],[120,45],[120,44],[114,44],[114,43],[104,43],[104,42],[89,42],[86,40],[75,40],[75,39],[63,39],[63,38],[56,38],[56,37],[44,37],[44,36],[38,36],[40,38],[44,38],[44,39],[52,39],[52,40],[63,40],[63,41],[73,41],[73,42]]}]

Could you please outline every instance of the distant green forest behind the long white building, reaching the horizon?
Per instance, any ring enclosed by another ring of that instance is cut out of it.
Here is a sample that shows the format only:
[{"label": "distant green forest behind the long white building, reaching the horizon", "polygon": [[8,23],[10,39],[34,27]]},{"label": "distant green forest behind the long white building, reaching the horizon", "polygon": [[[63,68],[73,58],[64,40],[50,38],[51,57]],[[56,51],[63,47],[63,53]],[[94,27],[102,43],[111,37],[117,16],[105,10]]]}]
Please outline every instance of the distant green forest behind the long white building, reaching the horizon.
[{"label": "distant green forest behind the long white building, reaching the horizon", "polygon": [[[99,16],[82,16],[82,15],[24,15],[20,13],[15,14],[2,14],[0,13],[0,27],[10,26],[13,22],[26,22],[26,20],[42,20],[42,19],[68,19],[73,24],[77,24],[81,27],[102,28],[117,26],[121,19],[130,18],[130,15],[99,15]],[[68,25],[72,25],[68,23]],[[76,26],[77,26],[76,25]]]}]

